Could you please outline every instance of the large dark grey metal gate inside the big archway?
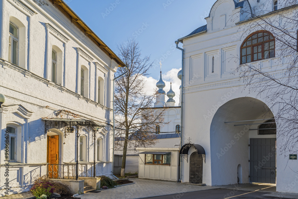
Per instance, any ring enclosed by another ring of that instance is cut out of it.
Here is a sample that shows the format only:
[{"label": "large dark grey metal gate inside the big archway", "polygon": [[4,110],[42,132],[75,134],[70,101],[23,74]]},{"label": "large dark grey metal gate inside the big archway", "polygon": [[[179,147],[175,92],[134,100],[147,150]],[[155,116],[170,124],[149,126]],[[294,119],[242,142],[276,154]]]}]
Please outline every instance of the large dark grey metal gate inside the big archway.
[{"label": "large dark grey metal gate inside the big archway", "polygon": [[249,148],[250,182],[275,184],[276,139],[251,138]]}]

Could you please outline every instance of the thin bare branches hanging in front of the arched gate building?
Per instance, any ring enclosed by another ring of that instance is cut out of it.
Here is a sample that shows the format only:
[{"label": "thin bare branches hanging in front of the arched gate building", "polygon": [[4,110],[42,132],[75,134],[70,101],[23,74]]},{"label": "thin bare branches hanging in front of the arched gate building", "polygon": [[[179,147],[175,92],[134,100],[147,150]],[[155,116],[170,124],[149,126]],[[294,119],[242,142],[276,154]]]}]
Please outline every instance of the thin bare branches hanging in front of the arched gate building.
[{"label": "thin bare branches hanging in front of the arched gate building", "polygon": [[[235,73],[240,74],[245,82],[245,89],[255,92],[257,97],[266,94],[268,107],[278,110],[274,113],[274,118],[279,127],[277,139],[280,138],[282,144],[277,148],[281,154],[286,155],[298,151],[298,1],[279,0],[276,11],[272,11],[271,3],[268,5],[267,9],[246,11],[249,19],[240,23],[239,32],[243,31],[242,37],[245,38],[247,35],[244,34],[247,32],[259,30],[268,31],[274,36],[274,68],[262,67],[262,60],[252,63],[243,63],[240,60],[242,64]],[[235,16],[231,20],[233,18]]]}]

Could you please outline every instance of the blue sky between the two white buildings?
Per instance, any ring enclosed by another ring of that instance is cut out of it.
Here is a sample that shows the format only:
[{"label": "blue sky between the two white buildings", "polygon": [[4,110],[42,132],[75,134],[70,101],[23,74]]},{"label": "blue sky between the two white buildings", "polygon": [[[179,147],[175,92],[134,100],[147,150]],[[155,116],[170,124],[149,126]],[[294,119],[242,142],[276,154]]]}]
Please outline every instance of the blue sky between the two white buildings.
[{"label": "blue sky between the two white buildings", "polygon": [[[174,73],[181,68],[181,51],[176,49],[175,41],[206,24],[204,18],[208,16],[215,0],[65,0],[65,2],[116,54],[118,54],[117,43],[135,38],[143,55],[150,55],[154,61],[149,83],[159,80],[161,60],[163,79],[169,82],[172,73],[175,81],[173,90],[179,96],[179,81],[176,78],[177,74]],[[166,85],[164,90],[167,92],[170,84],[166,82]],[[176,102],[177,96],[174,98]]]}]

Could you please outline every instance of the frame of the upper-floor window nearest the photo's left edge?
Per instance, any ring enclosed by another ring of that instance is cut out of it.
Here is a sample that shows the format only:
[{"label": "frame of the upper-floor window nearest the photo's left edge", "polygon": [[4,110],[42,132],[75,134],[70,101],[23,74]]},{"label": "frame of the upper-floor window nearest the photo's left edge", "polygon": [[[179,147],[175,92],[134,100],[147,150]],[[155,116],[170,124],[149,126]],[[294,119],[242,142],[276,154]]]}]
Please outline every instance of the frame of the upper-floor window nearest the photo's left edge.
[{"label": "frame of the upper-floor window nearest the photo's left edge", "polygon": [[[16,26],[13,22],[9,22],[9,25],[10,24],[12,24],[15,28],[16,28],[16,31],[17,31],[17,33],[16,33],[16,35],[17,36],[15,36],[15,35],[13,35],[12,33],[10,33],[10,31],[8,30],[8,32],[9,32],[9,39],[8,39],[8,61],[10,62],[10,63],[12,63],[12,64],[14,64],[14,65],[17,65],[18,66],[18,54],[19,54],[19,52],[18,52],[18,43],[19,43],[19,28],[18,28],[18,26]],[[15,63],[13,63],[13,55],[14,55],[14,53],[13,53],[13,49],[14,49],[14,44],[13,44],[13,41],[15,41],[16,42],[16,52],[15,52]]]}]

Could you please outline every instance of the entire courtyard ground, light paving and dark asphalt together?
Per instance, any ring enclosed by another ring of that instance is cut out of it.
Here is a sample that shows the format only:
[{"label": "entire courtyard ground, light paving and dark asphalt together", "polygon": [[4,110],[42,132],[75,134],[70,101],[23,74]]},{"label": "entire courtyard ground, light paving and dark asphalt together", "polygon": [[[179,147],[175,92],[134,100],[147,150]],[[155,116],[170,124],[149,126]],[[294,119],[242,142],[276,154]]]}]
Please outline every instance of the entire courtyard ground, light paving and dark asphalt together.
[{"label": "entire courtyard ground, light paving and dark asphalt together", "polygon": [[[298,194],[276,193],[272,184],[238,184],[225,186],[195,186],[175,182],[131,179],[135,184],[119,186],[113,189],[100,190],[99,193],[80,195],[81,199],[136,199],[154,196],[156,199],[186,199],[186,198],[297,198]],[[213,189],[213,190],[211,190]],[[216,189],[216,190],[215,190]],[[182,195],[181,195],[182,194]],[[167,195],[167,196],[165,196]],[[203,197],[201,197],[203,195]]]}]

